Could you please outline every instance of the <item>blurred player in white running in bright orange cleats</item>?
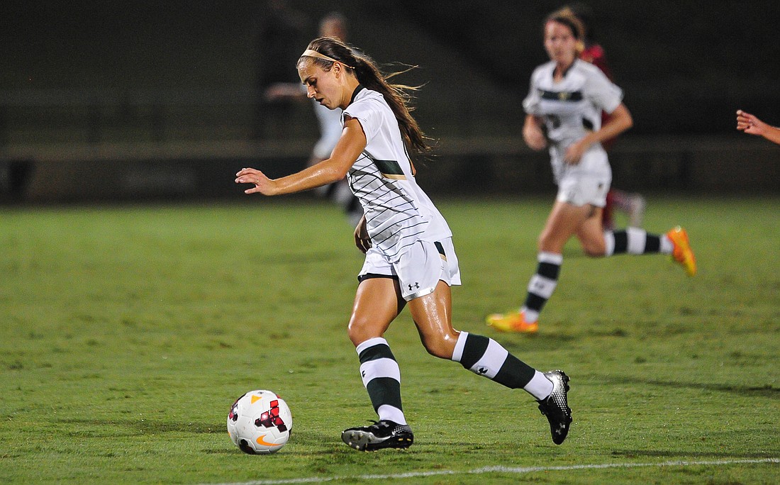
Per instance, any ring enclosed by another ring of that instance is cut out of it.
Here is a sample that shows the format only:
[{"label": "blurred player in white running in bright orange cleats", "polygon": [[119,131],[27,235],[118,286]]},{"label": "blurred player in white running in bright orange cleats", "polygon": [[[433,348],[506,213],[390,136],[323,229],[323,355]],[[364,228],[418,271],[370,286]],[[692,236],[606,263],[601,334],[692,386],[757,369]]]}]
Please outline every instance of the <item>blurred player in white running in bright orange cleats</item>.
[{"label": "blurred player in white running in bright orange cleats", "polygon": [[[696,259],[683,228],[665,235],[640,228],[604,231],[601,211],[612,171],[601,141],[633,125],[622,91],[595,65],[578,58],[582,28],[569,11],[552,13],[544,22],[544,48],[550,61],[531,75],[523,100],[527,113],[523,139],[533,150],[548,147],[558,196],[539,236],[538,266],[519,311],[494,313],[488,325],[498,331],[535,332],[542,306],[558,284],[562,251],[573,235],[590,257],[613,254],[672,253],[686,272],[696,274]],[[601,112],[610,114],[601,126]],[[545,134],[546,131],[546,134]]]}]

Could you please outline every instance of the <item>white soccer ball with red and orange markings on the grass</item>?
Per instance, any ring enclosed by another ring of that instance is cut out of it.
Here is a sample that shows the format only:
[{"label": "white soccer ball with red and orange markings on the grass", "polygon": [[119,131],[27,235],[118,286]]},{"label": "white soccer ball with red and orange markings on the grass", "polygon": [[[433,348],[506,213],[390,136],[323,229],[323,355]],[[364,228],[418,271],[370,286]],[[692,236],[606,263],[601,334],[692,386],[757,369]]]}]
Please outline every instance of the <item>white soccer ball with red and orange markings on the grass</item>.
[{"label": "white soccer ball with red and orange markings on the grass", "polygon": [[293,430],[293,415],[284,399],[271,391],[250,391],[230,407],[228,434],[233,444],[250,455],[282,449]]}]

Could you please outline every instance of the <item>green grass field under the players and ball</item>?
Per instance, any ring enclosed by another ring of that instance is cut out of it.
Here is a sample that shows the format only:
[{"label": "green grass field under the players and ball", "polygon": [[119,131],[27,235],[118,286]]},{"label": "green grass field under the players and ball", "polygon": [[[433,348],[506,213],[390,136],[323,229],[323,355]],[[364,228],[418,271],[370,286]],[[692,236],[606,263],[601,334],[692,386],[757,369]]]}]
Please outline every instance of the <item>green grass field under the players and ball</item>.
[{"label": "green grass field under the players and ball", "polygon": [[[0,483],[777,483],[780,198],[649,197],[645,227],[690,232],[667,257],[566,247],[538,335],[484,315],[521,303],[550,200],[440,200],[463,286],[455,325],[572,377],[552,444],[523,391],[434,359],[408,313],[387,338],[416,442],[360,453],[374,418],[346,322],[362,255],[329,204],[0,210]],[[254,388],[295,417],[244,455],[225,417]]]}]

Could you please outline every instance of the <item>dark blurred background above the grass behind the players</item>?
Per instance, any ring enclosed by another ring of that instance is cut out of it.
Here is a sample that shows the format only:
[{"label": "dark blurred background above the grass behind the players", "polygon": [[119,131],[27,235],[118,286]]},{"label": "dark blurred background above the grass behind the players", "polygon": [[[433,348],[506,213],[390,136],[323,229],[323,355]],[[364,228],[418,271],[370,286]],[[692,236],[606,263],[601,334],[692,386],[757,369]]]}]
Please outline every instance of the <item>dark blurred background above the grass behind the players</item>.
[{"label": "dark blurred background above the grass behind the players", "polygon": [[[5,184],[29,196],[45,163],[257,159],[279,173],[298,167],[317,138],[310,105],[291,104],[258,131],[257,81],[297,82],[294,62],[332,10],[348,17],[349,41],[378,62],[418,66],[400,81],[424,84],[417,119],[454,172],[479,163],[500,173],[517,160],[531,161],[530,175],[544,172],[546,156],[519,138],[520,103],[531,71],[547,60],[542,20],[566,2],[289,0],[296,28],[269,42],[260,33],[278,25],[270,3],[2,2],[0,193]],[[780,2],[587,4],[635,121],[611,157],[618,181],[711,187],[713,177],[755,162],[738,185],[777,189],[767,179],[780,178],[778,147],[737,133],[735,112],[780,124]],[[714,167],[704,185],[697,164]],[[161,166],[147,178],[159,180]],[[658,182],[661,175],[647,173],[672,175]],[[144,177],[135,173],[130,185]],[[539,179],[548,186],[546,172]],[[501,185],[491,180],[473,188]]]}]

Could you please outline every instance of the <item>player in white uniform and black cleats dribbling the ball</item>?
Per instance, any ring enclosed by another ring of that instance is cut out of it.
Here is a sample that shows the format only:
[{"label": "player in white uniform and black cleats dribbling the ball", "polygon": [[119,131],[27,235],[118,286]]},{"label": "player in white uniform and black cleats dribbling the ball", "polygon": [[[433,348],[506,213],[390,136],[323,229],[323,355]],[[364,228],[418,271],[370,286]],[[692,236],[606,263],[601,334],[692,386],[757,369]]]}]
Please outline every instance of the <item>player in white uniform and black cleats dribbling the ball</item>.
[{"label": "player in white uniform and black cleats dribbling the ball", "polygon": [[236,174],[246,193],[279,195],[313,189],[345,176],[363,206],[356,246],[366,254],[349,318],[363,378],[379,421],[344,430],[342,440],[361,451],[407,448],[413,434],[401,404],[398,363],[383,338],[408,305],[425,349],[509,388],[523,388],[547,416],[561,444],[572,421],[569,377],[541,373],[480,335],[452,328],[450,285],[460,284],[452,232],[414,179],[407,149],[430,150],[407,107],[407,87],[389,84],[370,58],[334,38],[311,41],[298,64],[309,97],[342,108],[342,136],[327,160],[293,175],[268,179],[254,168]]}]

